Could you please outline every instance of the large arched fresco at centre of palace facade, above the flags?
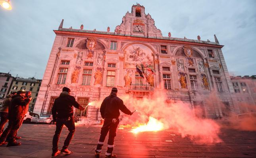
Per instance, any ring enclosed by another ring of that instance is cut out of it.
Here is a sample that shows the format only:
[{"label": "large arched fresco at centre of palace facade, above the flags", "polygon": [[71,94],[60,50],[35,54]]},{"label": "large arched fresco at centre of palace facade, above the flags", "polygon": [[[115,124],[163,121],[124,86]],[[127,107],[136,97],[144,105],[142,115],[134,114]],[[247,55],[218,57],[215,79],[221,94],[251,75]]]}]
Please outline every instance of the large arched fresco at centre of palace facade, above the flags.
[{"label": "large arched fresco at centre of palace facade, above the flags", "polygon": [[142,44],[133,44],[125,49],[125,68],[136,68],[143,65],[144,68],[154,70],[152,50]]}]

